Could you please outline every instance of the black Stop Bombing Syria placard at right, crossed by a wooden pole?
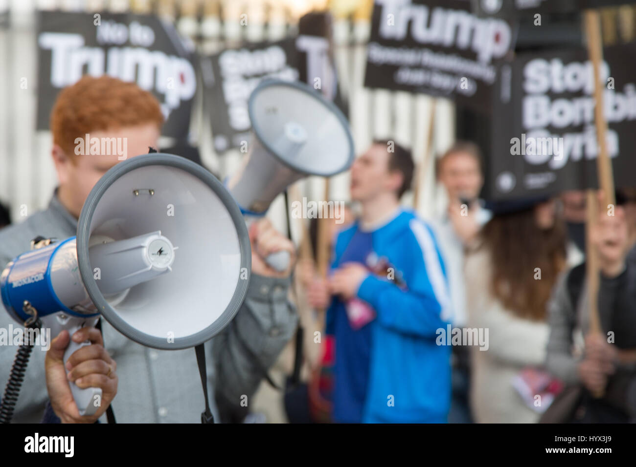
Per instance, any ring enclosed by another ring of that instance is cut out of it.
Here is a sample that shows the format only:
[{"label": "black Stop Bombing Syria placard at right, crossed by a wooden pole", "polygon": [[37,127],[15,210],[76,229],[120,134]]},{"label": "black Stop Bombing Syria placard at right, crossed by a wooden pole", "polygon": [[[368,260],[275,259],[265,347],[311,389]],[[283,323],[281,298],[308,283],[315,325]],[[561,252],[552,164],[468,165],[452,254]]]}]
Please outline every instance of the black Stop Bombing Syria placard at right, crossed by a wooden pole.
[{"label": "black Stop Bombing Syria placard at right, crossed by a wooden pole", "polygon": [[[616,187],[636,186],[636,43],[604,49],[607,152]],[[492,114],[492,199],[598,187],[593,71],[587,51],[520,54],[502,65]]]}]

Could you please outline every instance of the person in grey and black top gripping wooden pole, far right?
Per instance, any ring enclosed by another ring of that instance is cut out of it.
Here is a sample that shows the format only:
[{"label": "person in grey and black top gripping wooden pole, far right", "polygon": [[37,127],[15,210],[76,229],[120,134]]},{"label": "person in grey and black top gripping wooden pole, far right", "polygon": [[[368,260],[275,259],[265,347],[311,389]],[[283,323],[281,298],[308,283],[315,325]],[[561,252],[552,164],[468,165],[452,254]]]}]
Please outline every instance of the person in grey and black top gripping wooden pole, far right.
[{"label": "person in grey and black top gripping wooden pole, far right", "polygon": [[[582,384],[581,423],[636,421],[636,224],[623,207],[600,211],[592,229],[600,266],[600,333],[590,331],[585,263],[563,274],[549,306],[546,365],[566,384]],[[602,395],[602,396],[601,396]]]}]

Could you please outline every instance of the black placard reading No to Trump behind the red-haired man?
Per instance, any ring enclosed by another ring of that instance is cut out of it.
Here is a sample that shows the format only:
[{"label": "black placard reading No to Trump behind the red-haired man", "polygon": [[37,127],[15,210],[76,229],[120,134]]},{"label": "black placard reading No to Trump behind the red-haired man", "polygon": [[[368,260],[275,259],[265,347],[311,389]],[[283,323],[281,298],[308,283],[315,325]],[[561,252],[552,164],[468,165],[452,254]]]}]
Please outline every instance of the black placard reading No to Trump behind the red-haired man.
[{"label": "black placard reading No to Trump behind the red-haired man", "polygon": [[190,46],[172,25],[149,15],[41,11],[37,41],[38,130],[48,129],[62,88],[84,74],[108,74],[158,98],[163,135],[188,135],[197,77]]}]

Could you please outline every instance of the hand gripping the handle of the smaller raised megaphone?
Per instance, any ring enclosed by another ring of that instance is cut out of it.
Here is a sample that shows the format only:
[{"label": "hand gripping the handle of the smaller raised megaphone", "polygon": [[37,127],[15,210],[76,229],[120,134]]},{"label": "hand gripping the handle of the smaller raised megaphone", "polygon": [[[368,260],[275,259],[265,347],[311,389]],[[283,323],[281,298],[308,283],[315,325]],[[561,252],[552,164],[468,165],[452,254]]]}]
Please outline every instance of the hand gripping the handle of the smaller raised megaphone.
[{"label": "hand gripping the handle of the smaller raised megaphone", "polygon": [[[296,262],[294,244],[277,231],[269,219],[263,218],[252,222],[249,226],[249,241],[252,245],[252,273],[278,278],[291,274]],[[282,270],[272,267],[268,260],[282,254],[289,260],[286,267]]]}]

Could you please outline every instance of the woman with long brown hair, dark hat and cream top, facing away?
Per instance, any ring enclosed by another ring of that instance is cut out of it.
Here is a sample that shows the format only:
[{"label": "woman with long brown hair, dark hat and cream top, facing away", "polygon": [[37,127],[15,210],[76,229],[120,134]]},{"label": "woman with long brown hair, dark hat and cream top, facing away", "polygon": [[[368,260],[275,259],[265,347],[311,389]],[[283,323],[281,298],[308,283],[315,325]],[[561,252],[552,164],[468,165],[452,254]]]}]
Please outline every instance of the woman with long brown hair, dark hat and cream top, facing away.
[{"label": "woman with long brown hair, dark hat and cream top, facing away", "polygon": [[488,330],[487,346],[471,349],[471,406],[477,423],[534,423],[565,227],[554,200],[495,204],[493,213],[466,257],[469,323]]}]

